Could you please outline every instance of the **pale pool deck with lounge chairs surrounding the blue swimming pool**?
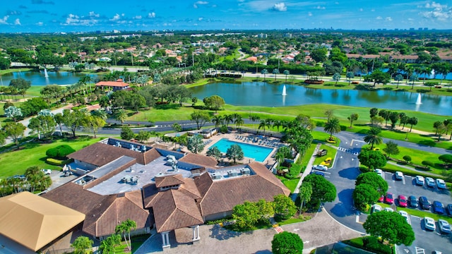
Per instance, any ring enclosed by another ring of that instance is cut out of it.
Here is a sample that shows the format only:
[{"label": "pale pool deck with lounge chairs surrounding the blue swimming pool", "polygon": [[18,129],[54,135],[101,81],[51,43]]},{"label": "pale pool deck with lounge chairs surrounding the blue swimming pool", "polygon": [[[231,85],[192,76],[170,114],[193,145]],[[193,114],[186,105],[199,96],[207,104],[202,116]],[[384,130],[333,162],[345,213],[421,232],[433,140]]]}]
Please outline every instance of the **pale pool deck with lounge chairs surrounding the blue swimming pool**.
[{"label": "pale pool deck with lounge chairs surrounding the blue swimming pool", "polygon": [[[230,133],[218,133],[216,135],[213,135],[210,138],[205,138],[204,142],[207,143],[204,147],[204,150],[201,153],[201,155],[206,155],[207,150],[215,145],[215,143],[218,142],[218,140],[222,138],[227,138],[231,141],[237,142],[237,143],[245,143],[250,145],[259,145],[262,147],[270,147],[273,148],[273,151],[270,152],[270,155],[266,157],[264,162],[261,162],[263,164],[273,165],[275,164],[275,158],[273,158],[273,155],[275,154],[276,150],[278,150],[278,145],[283,145],[283,143],[280,142],[279,138],[269,137],[269,136],[263,136],[263,135],[256,135],[251,133],[239,133],[237,131],[232,131]],[[257,142],[255,142],[257,140]],[[274,146],[271,146],[271,144],[275,144]],[[227,160],[227,158],[226,158]],[[244,157],[241,161],[238,161],[239,163],[250,163],[255,162],[256,160],[254,158]]]}]

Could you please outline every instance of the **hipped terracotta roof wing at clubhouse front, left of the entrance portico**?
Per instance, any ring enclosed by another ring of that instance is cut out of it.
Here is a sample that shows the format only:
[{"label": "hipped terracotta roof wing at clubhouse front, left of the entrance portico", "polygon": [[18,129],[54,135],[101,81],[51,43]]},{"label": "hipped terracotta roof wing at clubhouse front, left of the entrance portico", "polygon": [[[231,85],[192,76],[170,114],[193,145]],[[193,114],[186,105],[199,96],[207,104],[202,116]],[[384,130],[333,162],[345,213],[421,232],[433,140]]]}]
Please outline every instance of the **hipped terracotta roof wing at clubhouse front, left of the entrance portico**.
[{"label": "hipped terracotta roof wing at clubhouse front, left of the entrance portico", "polygon": [[97,207],[86,214],[83,231],[92,236],[107,236],[114,234],[116,226],[126,219],[136,222],[136,229],[143,229],[150,222],[149,211],[143,209],[141,191],[109,195]]}]

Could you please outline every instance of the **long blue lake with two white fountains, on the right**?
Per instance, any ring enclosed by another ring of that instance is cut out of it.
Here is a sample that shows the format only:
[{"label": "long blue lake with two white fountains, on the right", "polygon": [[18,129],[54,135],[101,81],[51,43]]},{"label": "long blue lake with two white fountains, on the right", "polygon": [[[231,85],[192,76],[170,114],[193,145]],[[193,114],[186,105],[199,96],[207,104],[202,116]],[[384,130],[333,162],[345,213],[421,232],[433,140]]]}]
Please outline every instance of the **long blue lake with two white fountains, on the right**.
[{"label": "long blue lake with two white fountains, on the right", "polygon": [[[281,95],[286,86],[286,96]],[[227,104],[240,106],[281,107],[302,104],[340,104],[352,107],[379,109],[406,109],[432,114],[451,115],[452,98],[441,95],[422,95],[422,104],[416,106],[417,94],[392,90],[326,90],[302,85],[273,85],[263,82],[211,83],[192,87],[199,99],[220,95]]]}]

